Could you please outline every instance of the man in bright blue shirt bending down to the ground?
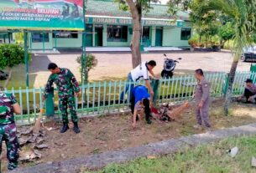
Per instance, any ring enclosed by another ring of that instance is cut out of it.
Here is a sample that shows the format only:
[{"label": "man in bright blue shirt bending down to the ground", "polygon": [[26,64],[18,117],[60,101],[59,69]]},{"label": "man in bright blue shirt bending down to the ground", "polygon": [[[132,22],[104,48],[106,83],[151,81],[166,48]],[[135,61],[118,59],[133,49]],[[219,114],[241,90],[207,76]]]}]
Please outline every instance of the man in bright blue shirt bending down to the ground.
[{"label": "man in bright blue shirt bending down to the ground", "polygon": [[150,125],[151,120],[150,116],[150,94],[148,93],[148,89],[145,86],[138,85],[133,88],[131,94],[131,110],[133,114],[133,128],[136,126],[137,112],[140,106],[144,107],[144,113],[147,123]]}]

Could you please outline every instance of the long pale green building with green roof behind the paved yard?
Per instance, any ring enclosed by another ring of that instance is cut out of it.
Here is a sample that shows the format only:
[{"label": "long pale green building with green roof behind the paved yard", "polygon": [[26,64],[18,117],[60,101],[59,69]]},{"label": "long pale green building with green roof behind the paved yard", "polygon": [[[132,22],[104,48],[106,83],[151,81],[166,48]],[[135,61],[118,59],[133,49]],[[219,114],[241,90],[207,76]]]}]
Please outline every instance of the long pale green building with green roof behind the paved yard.
[{"label": "long pale green building with green roof behind the paved yard", "polygon": [[[152,4],[143,15],[142,44],[145,47],[188,47],[191,38],[189,14],[168,14],[168,6]],[[59,33],[61,32],[61,33]],[[128,47],[132,42],[133,22],[129,12],[112,0],[88,0],[86,6],[86,47]],[[29,33],[30,49],[81,48],[81,33],[53,31]]]}]

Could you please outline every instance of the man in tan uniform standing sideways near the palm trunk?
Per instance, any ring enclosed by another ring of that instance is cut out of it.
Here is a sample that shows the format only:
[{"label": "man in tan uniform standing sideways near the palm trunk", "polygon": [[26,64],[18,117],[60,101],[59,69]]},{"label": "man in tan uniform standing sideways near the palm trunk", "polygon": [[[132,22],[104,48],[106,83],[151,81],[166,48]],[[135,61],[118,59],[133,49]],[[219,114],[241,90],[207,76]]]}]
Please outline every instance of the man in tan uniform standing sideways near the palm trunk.
[{"label": "man in tan uniform standing sideways near the palm trunk", "polygon": [[202,129],[205,127],[206,130],[211,128],[209,120],[209,104],[210,104],[210,84],[205,79],[202,69],[196,69],[196,79],[198,81],[196,85],[196,120],[197,125],[194,126],[196,129]]}]

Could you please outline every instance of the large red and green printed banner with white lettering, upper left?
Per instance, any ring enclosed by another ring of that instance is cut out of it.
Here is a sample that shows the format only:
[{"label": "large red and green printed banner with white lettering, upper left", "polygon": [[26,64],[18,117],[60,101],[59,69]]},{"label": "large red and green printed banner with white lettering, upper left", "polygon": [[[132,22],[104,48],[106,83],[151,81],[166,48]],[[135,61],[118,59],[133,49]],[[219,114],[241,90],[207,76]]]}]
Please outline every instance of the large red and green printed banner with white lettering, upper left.
[{"label": "large red and green printed banner with white lettering, upper left", "polygon": [[83,0],[0,0],[0,29],[83,30]]}]

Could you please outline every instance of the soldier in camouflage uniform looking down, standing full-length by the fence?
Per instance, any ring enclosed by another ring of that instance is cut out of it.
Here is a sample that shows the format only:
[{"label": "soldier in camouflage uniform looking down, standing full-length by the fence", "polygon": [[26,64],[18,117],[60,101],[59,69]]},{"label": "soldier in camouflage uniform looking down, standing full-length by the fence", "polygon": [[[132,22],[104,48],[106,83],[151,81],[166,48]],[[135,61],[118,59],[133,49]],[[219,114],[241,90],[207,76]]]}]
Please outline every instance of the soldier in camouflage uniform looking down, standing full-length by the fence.
[{"label": "soldier in camouflage uniform looking down, standing full-length by the fence", "polygon": [[50,70],[51,74],[45,86],[44,96],[49,94],[53,87],[53,83],[55,83],[59,93],[59,106],[63,120],[63,127],[60,130],[60,133],[65,133],[65,131],[69,129],[67,108],[69,108],[71,112],[71,120],[74,123],[74,131],[79,133],[80,130],[77,124],[78,118],[76,114],[75,96],[78,95],[80,89],[76,78],[69,69],[59,68],[54,63],[50,63],[48,65],[48,69]]}]

